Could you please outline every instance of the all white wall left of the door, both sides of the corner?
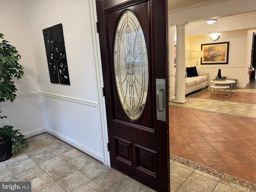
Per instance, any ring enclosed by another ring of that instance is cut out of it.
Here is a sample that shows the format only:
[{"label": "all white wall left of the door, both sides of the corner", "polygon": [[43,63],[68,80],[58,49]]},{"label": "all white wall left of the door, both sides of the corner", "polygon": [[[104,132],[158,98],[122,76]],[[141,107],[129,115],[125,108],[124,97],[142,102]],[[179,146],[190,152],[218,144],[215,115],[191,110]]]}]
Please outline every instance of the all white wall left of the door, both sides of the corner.
[{"label": "all white wall left of the door, both sides of the corner", "polygon": [[[22,56],[17,99],[1,103],[1,125],[49,132],[109,164],[93,0],[1,0],[0,32]],[[62,23],[70,86],[51,84],[42,30]]]}]

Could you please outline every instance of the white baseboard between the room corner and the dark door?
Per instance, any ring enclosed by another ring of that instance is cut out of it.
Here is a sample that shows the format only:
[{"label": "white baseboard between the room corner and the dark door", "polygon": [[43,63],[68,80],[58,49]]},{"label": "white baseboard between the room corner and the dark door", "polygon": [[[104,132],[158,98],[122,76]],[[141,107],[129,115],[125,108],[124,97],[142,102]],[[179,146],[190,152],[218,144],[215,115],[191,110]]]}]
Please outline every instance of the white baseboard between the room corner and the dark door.
[{"label": "white baseboard between the room corner and the dark door", "polygon": [[51,129],[51,128],[48,128],[46,127],[46,132],[56,136],[57,138],[59,138],[60,140],[74,146],[75,148],[78,148],[80,150],[82,150],[83,152],[85,152],[86,154],[96,158],[97,160],[101,161],[101,162],[104,162],[104,158],[103,158],[103,154],[93,150],[92,148],[80,143],[80,142],[77,142],[76,140],[72,139],[72,138],[69,138],[59,132],[56,132],[55,130]]}]

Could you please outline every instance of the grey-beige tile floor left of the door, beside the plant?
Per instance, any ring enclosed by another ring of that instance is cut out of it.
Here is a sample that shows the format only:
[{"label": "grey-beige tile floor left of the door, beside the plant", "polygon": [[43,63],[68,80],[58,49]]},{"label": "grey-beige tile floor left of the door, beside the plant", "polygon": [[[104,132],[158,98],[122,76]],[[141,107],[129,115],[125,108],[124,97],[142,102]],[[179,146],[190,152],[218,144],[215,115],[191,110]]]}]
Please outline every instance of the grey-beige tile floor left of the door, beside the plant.
[{"label": "grey-beige tile floor left of the door, beside the plant", "polygon": [[154,192],[48,133],[0,162],[1,182],[31,182],[32,192]]}]

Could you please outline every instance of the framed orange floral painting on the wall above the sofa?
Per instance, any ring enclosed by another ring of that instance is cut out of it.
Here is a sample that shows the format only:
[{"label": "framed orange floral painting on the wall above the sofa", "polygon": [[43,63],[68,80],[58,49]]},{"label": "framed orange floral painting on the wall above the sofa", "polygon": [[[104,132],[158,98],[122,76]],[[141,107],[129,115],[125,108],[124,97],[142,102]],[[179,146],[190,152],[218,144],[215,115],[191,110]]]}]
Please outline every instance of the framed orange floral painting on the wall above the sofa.
[{"label": "framed orange floral painting on the wall above the sofa", "polygon": [[228,64],[229,42],[201,44],[201,64]]}]

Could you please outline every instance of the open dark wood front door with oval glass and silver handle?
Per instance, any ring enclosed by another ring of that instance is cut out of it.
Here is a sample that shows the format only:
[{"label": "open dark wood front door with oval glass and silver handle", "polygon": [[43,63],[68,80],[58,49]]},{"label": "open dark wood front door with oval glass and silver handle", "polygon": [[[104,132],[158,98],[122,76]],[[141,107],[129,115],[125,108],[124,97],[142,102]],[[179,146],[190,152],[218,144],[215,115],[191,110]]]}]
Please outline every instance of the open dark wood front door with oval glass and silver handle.
[{"label": "open dark wood front door with oval glass and silver handle", "polygon": [[169,190],[166,0],[96,0],[110,164]]}]

